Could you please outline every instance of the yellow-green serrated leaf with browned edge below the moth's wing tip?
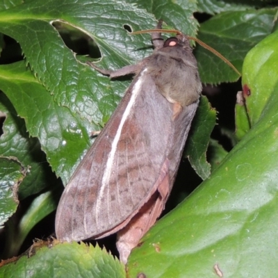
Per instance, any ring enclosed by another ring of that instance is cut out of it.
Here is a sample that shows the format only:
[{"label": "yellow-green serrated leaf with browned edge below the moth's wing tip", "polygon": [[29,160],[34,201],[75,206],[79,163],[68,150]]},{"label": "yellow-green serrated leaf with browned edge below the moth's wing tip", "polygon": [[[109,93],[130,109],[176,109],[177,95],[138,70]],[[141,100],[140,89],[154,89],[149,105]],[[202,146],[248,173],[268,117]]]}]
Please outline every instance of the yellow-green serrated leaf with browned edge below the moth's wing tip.
[{"label": "yellow-green serrated leaf with browned edge below the moth's wing tip", "polygon": [[[3,265],[2,261],[2,265]],[[16,265],[16,267],[15,267]],[[94,277],[124,278],[124,265],[101,250],[85,243],[34,243],[25,256],[0,268],[1,277]]]}]

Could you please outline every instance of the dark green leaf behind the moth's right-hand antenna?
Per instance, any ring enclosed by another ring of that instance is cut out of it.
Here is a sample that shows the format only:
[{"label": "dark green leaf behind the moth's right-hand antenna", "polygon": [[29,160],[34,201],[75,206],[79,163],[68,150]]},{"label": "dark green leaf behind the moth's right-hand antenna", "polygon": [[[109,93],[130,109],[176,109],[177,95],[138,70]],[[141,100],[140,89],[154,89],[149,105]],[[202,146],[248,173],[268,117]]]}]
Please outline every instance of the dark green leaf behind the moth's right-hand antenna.
[{"label": "dark green leaf behind the moth's right-hand antenna", "polygon": [[[220,52],[241,72],[247,52],[271,33],[276,13],[277,8],[220,13],[201,24],[198,38]],[[197,46],[195,54],[202,82],[216,84],[239,78],[220,58],[202,47]]]}]

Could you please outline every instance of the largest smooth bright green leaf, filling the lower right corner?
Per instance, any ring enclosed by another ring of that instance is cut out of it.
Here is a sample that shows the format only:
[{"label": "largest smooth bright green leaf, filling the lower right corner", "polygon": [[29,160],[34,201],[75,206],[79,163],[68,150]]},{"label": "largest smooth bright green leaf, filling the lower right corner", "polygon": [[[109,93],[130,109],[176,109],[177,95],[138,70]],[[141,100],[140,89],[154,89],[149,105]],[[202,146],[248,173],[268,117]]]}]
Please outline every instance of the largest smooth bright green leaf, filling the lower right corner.
[{"label": "largest smooth bright green leaf, filling the lower right corner", "polygon": [[[272,55],[275,36],[265,38],[272,42]],[[271,63],[261,56],[244,67],[243,76],[254,67],[278,76],[277,62],[275,56]],[[269,82],[256,124],[211,177],[142,238],[129,259],[130,277],[144,272],[154,278],[209,278],[217,277],[216,270],[223,277],[277,276],[278,85],[276,79]],[[253,107],[260,110],[256,99]]]}]

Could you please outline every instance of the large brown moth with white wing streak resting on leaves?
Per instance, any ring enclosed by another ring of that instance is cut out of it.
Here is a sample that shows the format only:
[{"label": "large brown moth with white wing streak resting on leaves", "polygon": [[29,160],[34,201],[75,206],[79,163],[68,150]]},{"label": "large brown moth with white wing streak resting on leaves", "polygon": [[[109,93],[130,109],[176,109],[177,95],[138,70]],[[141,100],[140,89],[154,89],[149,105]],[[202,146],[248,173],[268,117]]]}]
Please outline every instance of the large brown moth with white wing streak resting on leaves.
[{"label": "large brown moth with white wing streak resting on leaves", "polygon": [[154,53],[137,65],[115,72],[92,65],[111,78],[136,76],[67,184],[56,214],[62,241],[117,232],[124,263],[163,211],[202,91],[186,35],[164,42],[152,33],[152,40]]}]

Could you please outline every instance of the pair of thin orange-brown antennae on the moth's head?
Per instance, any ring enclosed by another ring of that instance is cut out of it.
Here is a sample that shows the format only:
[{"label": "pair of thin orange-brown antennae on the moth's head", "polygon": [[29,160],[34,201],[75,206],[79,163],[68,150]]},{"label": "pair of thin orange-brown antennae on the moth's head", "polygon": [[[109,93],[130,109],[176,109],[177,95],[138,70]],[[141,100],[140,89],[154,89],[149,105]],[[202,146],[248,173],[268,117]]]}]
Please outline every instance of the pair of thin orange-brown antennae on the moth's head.
[{"label": "pair of thin orange-brown antennae on the moth's head", "polygon": [[[175,30],[175,29],[170,29],[170,30],[165,30],[165,29],[149,29],[149,30],[141,30],[141,31],[135,31],[130,33],[131,35],[138,35],[138,34],[145,34],[145,33],[175,33],[176,35],[183,35],[181,31]],[[222,54],[220,54],[218,51],[213,49],[212,47],[208,46],[208,44],[202,42],[202,40],[199,40],[195,37],[191,37],[190,35],[185,35],[188,40],[194,40],[197,42],[201,47],[204,47],[204,49],[207,49],[208,51],[211,51],[212,54],[215,56],[218,56],[224,63],[227,63],[229,67],[231,67],[239,76],[241,76],[240,72],[236,69],[236,67],[227,59],[225,58]]]}]

